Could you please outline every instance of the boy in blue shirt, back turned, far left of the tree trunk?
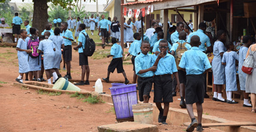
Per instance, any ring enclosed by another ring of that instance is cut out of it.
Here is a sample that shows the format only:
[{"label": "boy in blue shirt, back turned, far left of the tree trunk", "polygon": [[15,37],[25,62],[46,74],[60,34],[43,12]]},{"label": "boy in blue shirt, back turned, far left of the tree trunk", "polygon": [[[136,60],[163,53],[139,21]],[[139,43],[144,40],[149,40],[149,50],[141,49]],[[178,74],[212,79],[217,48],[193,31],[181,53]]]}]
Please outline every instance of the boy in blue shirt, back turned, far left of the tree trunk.
[{"label": "boy in blue shirt, back turned, far left of the tree trunk", "polygon": [[20,25],[22,24],[22,20],[18,17],[18,12],[15,12],[15,17],[13,18],[13,34],[14,34],[14,41],[17,42],[18,35],[20,35]]}]

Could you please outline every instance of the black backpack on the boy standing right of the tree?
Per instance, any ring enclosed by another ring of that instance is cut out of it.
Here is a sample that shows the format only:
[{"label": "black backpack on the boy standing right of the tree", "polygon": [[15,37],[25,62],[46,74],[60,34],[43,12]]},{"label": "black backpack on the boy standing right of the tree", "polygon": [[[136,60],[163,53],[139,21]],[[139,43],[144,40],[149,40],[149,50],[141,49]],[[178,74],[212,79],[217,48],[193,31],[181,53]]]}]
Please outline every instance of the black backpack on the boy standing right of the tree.
[{"label": "black backpack on the boy standing right of the tree", "polygon": [[85,56],[92,56],[92,54],[95,51],[95,42],[93,41],[92,38],[89,38],[88,34],[87,35],[85,35],[85,33],[82,33],[82,34],[86,38],[85,49],[83,49],[83,46],[82,46],[83,54],[85,54]]}]

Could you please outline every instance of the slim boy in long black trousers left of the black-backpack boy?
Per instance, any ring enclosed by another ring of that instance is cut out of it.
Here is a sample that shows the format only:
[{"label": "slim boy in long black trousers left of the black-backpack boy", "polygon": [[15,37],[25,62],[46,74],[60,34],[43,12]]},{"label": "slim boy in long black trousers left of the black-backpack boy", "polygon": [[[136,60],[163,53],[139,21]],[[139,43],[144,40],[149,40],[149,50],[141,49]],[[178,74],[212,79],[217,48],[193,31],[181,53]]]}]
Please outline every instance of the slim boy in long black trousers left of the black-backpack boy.
[{"label": "slim boy in long black trousers left of the black-backpack boy", "polygon": [[67,22],[61,23],[61,29],[63,30],[62,36],[64,38],[64,46],[63,52],[65,54],[65,63],[67,64],[67,75],[64,78],[72,79],[70,75],[70,66],[72,60],[72,43],[74,41],[73,33],[67,29]]}]

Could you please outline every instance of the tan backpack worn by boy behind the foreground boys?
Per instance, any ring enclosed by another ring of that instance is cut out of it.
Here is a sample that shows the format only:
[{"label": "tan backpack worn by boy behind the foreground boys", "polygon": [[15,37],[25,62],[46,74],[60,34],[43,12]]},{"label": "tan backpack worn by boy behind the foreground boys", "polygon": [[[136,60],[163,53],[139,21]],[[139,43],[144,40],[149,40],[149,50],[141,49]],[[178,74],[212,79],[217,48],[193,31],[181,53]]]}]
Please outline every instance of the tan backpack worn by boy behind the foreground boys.
[{"label": "tan backpack worn by boy behind the foreground boys", "polygon": [[184,54],[184,52],[187,51],[188,49],[185,47],[186,42],[182,44],[177,42],[177,44],[179,44],[179,46],[177,47],[177,50],[176,50],[175,62],[176,62],[177,69],[182,70],[179,67],[180,60],[182,59],[182,55]]}]

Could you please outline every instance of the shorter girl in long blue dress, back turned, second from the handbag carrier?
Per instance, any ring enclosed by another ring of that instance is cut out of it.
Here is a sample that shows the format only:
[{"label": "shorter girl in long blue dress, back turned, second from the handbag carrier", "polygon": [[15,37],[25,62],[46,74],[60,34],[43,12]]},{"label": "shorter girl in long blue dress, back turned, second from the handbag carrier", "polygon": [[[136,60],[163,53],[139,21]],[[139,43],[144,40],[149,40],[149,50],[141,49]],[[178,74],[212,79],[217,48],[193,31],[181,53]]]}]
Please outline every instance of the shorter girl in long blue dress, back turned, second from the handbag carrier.
[{"label": "shorter girl in long blue dress, back turned, second from the handbag carrier", "polygon": [[234,44],[229,43],[226,45],[227,51],[223,54],[221,64],[225,66],[226,76],[226,94],[228,104],[238,104],[238,102],[232,100],[232,91],[238,91],[236,86],[236,60],[239,60],[238,54],[233,51]]}]

